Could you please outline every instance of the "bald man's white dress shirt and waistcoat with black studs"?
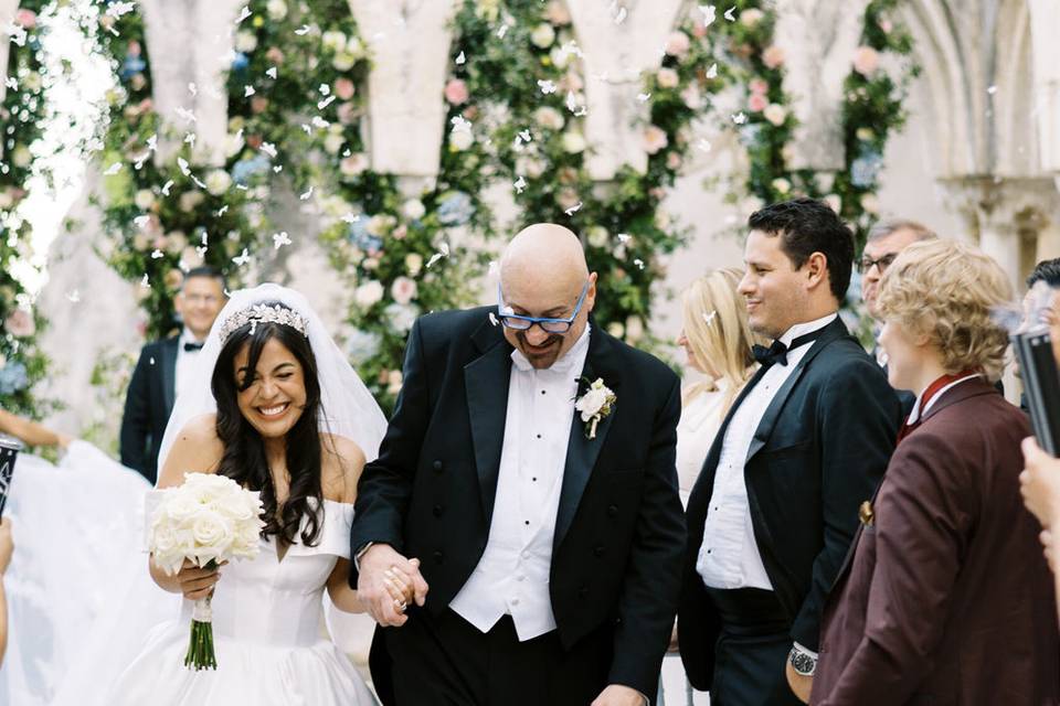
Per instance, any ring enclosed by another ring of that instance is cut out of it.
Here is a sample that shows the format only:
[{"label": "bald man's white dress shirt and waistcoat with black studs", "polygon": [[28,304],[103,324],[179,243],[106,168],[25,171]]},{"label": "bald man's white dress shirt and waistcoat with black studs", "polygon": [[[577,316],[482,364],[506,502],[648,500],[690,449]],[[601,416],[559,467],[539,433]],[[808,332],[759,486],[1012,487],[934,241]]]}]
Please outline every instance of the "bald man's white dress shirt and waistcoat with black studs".
[{"label": "bald man's white dress shirt and waistcoat with black studs", "polygon": [[489,539],[449,607],[483,632],[510,614],[519,641],[555,630],[549,596],[552,538],[560,507],[577,379],[589,325],[551,367],[511,353],[508,411]]}]

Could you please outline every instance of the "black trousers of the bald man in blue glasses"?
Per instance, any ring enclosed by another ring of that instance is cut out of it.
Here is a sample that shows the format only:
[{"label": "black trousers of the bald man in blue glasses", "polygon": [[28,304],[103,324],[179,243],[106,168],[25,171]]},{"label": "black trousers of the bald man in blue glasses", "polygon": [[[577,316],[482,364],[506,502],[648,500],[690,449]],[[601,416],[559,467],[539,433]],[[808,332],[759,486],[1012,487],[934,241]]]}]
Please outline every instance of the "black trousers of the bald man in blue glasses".
[{"label": "black trousers of the bald man in blue glasses", "polygon": [[604,625],[563,650],[554,630],[519,642],[509,616],[483,633],[451,609],[414,610],[377,630],[372,678],[388,706],[587,706],[607,685],[612,639]]}]

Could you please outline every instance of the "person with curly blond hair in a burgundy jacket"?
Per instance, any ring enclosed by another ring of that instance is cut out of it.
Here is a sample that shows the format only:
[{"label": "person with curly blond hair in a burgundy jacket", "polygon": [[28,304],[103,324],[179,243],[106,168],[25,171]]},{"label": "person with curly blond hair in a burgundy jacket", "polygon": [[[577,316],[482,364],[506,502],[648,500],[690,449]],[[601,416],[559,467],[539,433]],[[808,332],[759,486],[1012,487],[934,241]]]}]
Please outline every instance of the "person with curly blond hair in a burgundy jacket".
[{"label": "person with curly blond hair in a burgundy jacket", "polygon": [[1027,417],[995,389],[1008,277],[976,248],[918,243],[877,306],[891,385],[916,395],[825,607],[812,704],[1060,700],[1052,578],[1019,492]]}]

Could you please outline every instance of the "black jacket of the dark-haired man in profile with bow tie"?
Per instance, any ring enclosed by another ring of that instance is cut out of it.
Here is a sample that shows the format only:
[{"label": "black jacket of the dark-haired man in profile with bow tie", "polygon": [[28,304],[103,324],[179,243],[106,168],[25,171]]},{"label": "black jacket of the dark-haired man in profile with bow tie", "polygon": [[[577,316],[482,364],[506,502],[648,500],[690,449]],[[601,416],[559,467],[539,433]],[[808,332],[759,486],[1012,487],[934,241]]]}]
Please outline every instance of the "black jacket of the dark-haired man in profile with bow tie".
[{"label": "black jacket of the dark-haired man in profile with bow tie", "polygon": [[[688,500],[688,545],[678,631],[689,682],[710,688],[721,624],[696,560],[732,415],[729,411]],[[820,613],[858,526],[858,503],[883,475],[901,421],[882,370],[836,319],[803,356],[762,417],[744,464],[754,537],[787,612],[791,638],[816,650]],[[778,666],[777,668],[782,668]]]}]

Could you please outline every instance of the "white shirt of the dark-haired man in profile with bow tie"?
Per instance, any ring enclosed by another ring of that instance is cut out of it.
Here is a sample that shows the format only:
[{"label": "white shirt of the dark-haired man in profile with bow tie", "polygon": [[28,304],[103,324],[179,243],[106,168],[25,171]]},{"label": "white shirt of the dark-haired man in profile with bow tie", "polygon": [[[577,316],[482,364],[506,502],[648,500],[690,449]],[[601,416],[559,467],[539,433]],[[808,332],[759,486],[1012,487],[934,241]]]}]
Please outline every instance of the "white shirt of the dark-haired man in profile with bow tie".
[{"label": "white shirt of the dark-haired man in profile with bow tie", "polygon": [[[816,321],[797,323],[780,341],[791,345],[798,336],[825,328],[837,317],[830,313]],[[703,525],[703,543],[696,561],[696,570],[710,588],[773,590],[754,539],[743,467],[765,410],[812,345],[807,342],[788,351],[786,365],[771,366],[743,398],[725,429],[714,474],[714,491]]]}]

